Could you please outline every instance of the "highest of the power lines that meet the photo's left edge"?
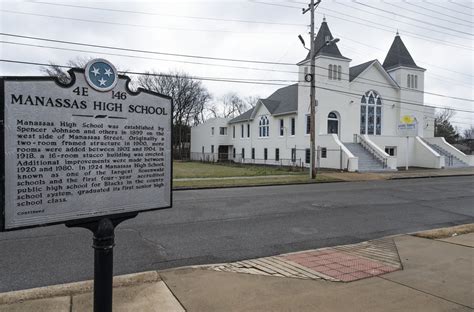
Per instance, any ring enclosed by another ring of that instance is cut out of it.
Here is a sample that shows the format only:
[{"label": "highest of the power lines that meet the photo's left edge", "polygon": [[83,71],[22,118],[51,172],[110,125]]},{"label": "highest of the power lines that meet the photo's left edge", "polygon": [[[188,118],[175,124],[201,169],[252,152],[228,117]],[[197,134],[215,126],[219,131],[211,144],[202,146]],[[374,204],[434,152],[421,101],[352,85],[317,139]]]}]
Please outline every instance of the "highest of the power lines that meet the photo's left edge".
[{"label": "highest of the power lines that meet the photo's left edge", "polygon": [[[266,34],[281,34],[282,33],[282,32],[269,32],[269,31],[268,32],[255,32],[255,31],[245,32],[245,31],[233,31],[233,30],[221,30],[221,29],[199,29],[199,28],[182,28],[182,27],[168,27],[168,26],[156,26],[156,25],[140,25],[140,24],[99,21],[99,20],[75,18],[75,17],[55,16],[55,15],[30,13],[30,12],[19,12],[19,11],[12,11],[12,10],[0,10],[0,12],[38,16],[38,17],[47,17],[47,18],[54,18],[54,19],[67,20],[67,21],[76,21],[76,22],[97,23],[97,24],[106,24],[106,25],[114,25],[114,26],[138,27],[138,28],[145,28],[145,29],[156,28],[156,29],[167,29],[167,30],[177,30],[177,31],[240,33],[240,34],[251,34],[251,35],[266,35]],[[290,32],[286,32],[286,33],[290,33]]]}]

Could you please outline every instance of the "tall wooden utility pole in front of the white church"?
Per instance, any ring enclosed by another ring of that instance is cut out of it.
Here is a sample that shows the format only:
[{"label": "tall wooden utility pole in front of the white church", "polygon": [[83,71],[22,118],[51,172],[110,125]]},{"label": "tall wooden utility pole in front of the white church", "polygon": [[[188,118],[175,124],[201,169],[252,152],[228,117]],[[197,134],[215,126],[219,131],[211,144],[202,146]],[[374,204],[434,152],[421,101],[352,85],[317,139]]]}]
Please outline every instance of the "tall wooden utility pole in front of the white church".
[{"label": "tall wooden utility pole in front of the white church", "polygon": [[[321,0],[318,0],[316,2],[316,6],[321,2]],[[310,58],[310,74],[311,74],[311,87],[309,89],[309,106],[310,106],[310,134],[309,134],[309,150],[310,150],[310,161],[309,161],[309,178],[310,179],[316,179],[316,164],[315,164],[315,152],[316,152],[316,133],[315,133],[315,128],[316,128],[316,113],[315,113],[315,104],[316,104],[316,73],[315,73],[315,64],[314,64],[314,58],[315,58],[315,46],[314,46],[314,10],[315,10],[315,3],[314,0],[311,0],[309,4],[309,8],[303,9],[303,14],[306,12],[310,11],[311,12],[311,32],[310,32],[310,38],[311,38],[311,50],[309,52],[309,58]]]}]

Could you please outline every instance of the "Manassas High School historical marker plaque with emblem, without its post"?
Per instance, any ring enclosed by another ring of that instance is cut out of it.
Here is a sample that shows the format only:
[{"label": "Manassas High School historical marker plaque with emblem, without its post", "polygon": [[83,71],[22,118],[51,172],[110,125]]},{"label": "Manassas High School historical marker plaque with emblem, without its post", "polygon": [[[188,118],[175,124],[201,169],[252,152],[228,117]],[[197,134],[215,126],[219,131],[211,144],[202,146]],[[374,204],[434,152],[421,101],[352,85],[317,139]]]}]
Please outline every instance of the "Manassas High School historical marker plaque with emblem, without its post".
[{"label": "Manassas High School historical marker plaque with emblem, without its post", "polygon": [[102,59],[70,75],[0,80],[0,230],[171,207],[171,99]]}]

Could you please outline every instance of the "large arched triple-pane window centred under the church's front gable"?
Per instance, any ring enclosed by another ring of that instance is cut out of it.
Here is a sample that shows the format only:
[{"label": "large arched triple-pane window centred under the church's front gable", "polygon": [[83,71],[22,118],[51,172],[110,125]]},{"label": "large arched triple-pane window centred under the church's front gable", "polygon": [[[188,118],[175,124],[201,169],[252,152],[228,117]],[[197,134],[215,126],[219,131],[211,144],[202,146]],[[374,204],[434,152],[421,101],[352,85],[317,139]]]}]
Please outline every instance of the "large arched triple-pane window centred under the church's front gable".
[{"label": "large arched triple-pane window centred under the church's front gable", "polygon": [[382,99],[375,91],[367,91],[360,101],[360,134],[382,134]]}]

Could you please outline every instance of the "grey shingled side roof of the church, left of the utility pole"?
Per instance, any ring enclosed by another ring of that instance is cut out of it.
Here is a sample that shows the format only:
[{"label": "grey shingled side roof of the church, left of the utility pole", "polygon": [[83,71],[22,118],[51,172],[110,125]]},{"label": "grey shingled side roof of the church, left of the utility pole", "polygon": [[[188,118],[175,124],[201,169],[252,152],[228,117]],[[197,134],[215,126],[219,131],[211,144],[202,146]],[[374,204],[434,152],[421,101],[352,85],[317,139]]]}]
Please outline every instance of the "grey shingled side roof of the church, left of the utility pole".
[{"label": "grey shingled side roof of the church, left of the utility pole", "polygon": [[[261,103],[261,104],[260,104]],[[257,106],[249,109],[240,116],[230,120],[229,123],[248,121],[254,118],[258,105],[264,105],[271,115],[293,113],[298,110],[298,84],[292,84],[273,92],[266,99],[259,99]]]}]

